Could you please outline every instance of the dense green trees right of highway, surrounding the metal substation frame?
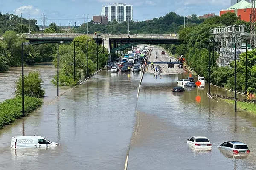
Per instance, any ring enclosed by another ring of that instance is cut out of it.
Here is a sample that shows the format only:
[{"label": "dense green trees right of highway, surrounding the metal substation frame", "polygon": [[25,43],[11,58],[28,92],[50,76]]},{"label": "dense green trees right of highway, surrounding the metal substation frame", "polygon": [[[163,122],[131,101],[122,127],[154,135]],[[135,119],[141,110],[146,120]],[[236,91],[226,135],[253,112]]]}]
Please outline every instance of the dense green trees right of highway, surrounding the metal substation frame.
[{"label": "dense green trees right of highway, surrounding the metal substation frame", "polygon": [[[178,34],[180,45],[163,45],[172,54],[183,56],[187,64],[199,75],[209,79],[209,51],[212,43],[209,42],[209,31],[218,26],[247,25],[250,23],[239,20],[236,14],[227,13],[204,20],[200,24],[190,24],[186,28],[180,27]],[[200,41],[200,42],[199,42]],[[194,54],[195,45],[195,54]],[[200,45],[200,46],[199,46]],[[212,52],[211,52],[212,53]],[[212,56],[212,54],[211,54]],[[237,62],[237,89],[245,92],[245,53],[242,53]],[[256,91],[256,49],[248,51],[248,91]],[[214,53],[211,59],[211,82],[215,85],[234,89],[234,62],[230,66],[218,67],[218,54]]]}]

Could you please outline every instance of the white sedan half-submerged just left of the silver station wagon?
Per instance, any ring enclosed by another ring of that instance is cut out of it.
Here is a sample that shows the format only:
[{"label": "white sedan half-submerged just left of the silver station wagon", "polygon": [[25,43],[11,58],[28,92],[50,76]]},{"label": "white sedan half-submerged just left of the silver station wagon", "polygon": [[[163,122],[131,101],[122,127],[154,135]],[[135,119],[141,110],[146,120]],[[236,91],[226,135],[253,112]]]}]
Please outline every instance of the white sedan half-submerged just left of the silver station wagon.
[{"label": "white sedan half-submerged just left of the silver station wagon", "polygon": [[195,149],[212,149],[212,144],[205,136],[193,136],[187,140],[187,144]]}]

